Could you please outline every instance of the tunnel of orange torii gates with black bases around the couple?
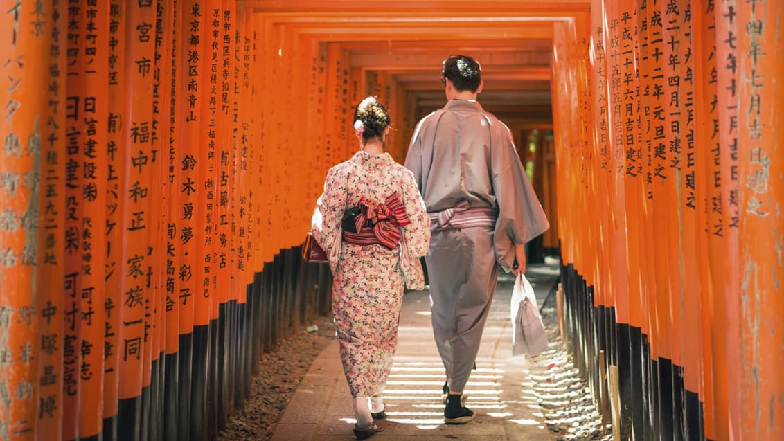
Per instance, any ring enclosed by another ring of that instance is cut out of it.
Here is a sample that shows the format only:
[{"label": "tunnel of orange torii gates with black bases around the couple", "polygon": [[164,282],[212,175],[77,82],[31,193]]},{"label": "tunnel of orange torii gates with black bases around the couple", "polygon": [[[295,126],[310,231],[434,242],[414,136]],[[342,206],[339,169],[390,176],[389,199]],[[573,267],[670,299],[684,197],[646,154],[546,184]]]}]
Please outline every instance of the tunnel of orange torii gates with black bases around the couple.
[{"label": "tunnel of orange torii gates with black bases around the couple", "polygon": [[0,440],[214,439],[329,313],[298,252],[354,105],[390,108],[404,161],[452,53],[622,439],[784,439],[782,25],[778,0],[4,1]]}]

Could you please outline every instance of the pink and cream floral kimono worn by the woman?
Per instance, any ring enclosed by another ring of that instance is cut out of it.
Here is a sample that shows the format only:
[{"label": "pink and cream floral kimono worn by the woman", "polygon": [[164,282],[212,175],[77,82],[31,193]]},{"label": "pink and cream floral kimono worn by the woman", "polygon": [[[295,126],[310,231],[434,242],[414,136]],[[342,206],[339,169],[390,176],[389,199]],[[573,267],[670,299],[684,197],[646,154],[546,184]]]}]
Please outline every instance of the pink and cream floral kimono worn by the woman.
[{"label": "pink and cream floral kimono worn by the woman", "polygon": [[[390,201],[396,208],[387,209]],[[350,243],[343,236],[343,215],[361,204],[373,208],[376,217],[397,210],[405,220],[392,226],[377,223],[376,234],[383,243]],[[430,217],[412,172],[389,154],[363,151],[329,169],[317,211],[321,230],[314,229],[313,234],[328,255],[336,254],[331,249],[336,237],[344,237],[339,258],[330,262],[332,313],[343,371],[352,396],[373,396],[387,385],[403,302],[401,245],[394,235],[401,235],[408,254],[418,259],[430,244]],[[380,231],[382,225],[387,231]]]}]

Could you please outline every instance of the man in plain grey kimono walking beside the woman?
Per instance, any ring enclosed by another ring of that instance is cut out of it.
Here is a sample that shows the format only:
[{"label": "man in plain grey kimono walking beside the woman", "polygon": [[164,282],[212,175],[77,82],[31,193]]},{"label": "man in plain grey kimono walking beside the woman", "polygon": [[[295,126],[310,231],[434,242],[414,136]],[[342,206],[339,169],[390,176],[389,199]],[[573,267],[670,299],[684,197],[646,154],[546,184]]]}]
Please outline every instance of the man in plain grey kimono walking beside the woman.
[{"label": "man in plain grey kimono walking beside the woman", "polygon": [[481,67],[470,56],[444,60],[448,103],[419,121],[406,168],[431,220],[430,304],[448,391],[444,421],[464,424],[461,403],[498,283],[499,266],[525,270],[524,244],[550,226],[525,175],[509,128],[477,103]]}]

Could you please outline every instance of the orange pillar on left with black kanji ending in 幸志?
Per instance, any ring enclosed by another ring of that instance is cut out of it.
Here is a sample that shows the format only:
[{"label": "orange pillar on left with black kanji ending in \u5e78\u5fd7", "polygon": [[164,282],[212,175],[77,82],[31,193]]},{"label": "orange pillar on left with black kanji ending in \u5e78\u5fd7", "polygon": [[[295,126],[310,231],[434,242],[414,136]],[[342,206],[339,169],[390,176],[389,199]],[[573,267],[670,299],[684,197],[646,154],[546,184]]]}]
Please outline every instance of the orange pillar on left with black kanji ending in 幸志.
[{"label": "orange pillar on left with black kanji ending in \u5e78\u5fd7", "polygon": [[[104,306],[106,279],[107,231],[107,150],[109,110],[109,5],[86,2],[82,38],[84,64],[80,72],[84,99],[81,120],[74,128],[82,130],[82,201],[83,217],[81,283],[78,284],[81,339],[78,342],[79,422],[78,436],[87,438],[100,434],[103,428],[103,335],[106,314]],[[74,91],[75,92],[75,91]]]}]

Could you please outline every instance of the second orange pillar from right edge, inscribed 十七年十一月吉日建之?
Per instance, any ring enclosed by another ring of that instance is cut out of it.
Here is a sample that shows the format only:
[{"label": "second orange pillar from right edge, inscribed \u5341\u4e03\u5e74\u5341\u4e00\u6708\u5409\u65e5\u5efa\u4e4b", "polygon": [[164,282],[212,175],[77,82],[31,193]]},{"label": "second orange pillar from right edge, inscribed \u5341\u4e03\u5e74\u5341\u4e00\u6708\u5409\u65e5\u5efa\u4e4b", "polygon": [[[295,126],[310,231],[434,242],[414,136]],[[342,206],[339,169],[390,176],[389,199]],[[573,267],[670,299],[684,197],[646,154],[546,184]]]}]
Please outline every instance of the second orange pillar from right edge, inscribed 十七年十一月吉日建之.
[{"label": "second orange pillar from right edge, inscribed \u5341\u4e03\u5e74\u5341\u4e00\u6708\u5409\u65e5\u5efa\u4e4b", "polygon": [[713,147],[718,168],[713,171],[715,211],[709,241],[713,298],[713,392],[716,399],[717,439],[740,436],[740,296],[738,257],[738,60],[736,0],[717,2],[716,123]]}]

